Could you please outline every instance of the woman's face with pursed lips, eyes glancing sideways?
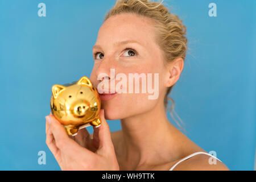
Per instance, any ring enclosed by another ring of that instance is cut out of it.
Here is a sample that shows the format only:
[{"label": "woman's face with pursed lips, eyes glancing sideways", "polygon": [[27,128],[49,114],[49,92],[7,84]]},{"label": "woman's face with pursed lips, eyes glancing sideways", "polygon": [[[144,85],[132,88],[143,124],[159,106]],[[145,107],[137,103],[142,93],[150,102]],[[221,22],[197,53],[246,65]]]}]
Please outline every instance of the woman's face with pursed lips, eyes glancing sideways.
[{"label": "woman's face with pursed lips, eyes glancing sideways", "polygon": [[[105,79],[97,79],[102,73],[110,78],[109,89],[101,83],[104,86],[100,89],[105,92],[110,91],[110,80],[115,80],[115,86],[118,82],[121,83],[122,79],[117,81],[119,73],[123,73],[127,78],[126,84],[119,85],[122,90],[127,89],[127,93],[117,93],[109,100],[102,99],[106,119],[122,119],[142,114],[153,109],[158,102],[163,102],[167,70],[164,67],[162,51],[155,42],[154,24],[151,19],[134,14],[110,16],[98,31],[93,55],[94,67],[90,80],[98,91],[98,85]],[[110,75],[110,69],[114,69],[114,74]],[[146,78],[147,73],[152,73],[150,84],[154,93],[148,93],[149,82],[142,81],[142,78],[139,79],[138,85],[133,80],[133,92],[129,93],[129,73],[144,73]],[[154,77],[155,73],[159,74],[158,77]],[[139,93],[135,93],[135,86],[139,86]],[[146,86],[146,93],[142,93],[142,86]],[[154,99],[150,100],[148,96],[154,94]]]}]

